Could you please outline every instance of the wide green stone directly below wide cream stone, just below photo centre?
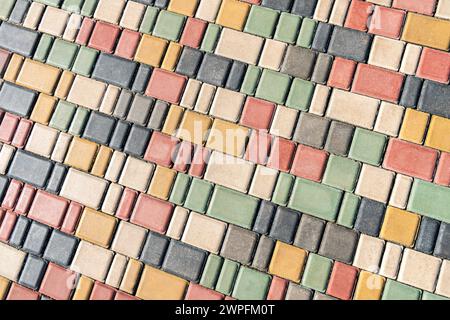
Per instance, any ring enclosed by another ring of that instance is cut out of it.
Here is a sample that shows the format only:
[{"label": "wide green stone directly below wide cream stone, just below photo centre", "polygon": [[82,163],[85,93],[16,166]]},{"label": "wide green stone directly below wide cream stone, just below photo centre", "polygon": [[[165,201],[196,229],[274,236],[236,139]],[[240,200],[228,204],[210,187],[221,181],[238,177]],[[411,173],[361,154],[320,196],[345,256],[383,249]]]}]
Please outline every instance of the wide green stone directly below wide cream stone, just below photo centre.
[{"label": "wide green stone directly below wide cream stone, just below photo centre", "polygon": [[216,186],[207,215],[250,229],[258,210],[259,199]]}]

